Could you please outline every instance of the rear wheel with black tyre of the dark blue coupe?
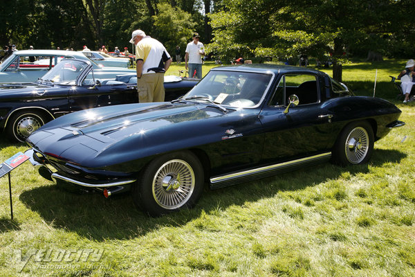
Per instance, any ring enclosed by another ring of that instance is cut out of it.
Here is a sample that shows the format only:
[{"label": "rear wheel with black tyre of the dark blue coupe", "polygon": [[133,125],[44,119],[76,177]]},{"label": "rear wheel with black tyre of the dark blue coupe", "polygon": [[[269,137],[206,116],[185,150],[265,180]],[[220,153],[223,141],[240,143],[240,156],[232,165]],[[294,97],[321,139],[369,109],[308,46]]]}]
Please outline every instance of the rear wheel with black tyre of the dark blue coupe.
[{"label": "rear wheel with black tyre of the dark blue coupe", "polygon": [[333,149],[333,161],[341,166],[367,163],[374,150],[374,131],[369,123],[350,123],[340,133]]}]

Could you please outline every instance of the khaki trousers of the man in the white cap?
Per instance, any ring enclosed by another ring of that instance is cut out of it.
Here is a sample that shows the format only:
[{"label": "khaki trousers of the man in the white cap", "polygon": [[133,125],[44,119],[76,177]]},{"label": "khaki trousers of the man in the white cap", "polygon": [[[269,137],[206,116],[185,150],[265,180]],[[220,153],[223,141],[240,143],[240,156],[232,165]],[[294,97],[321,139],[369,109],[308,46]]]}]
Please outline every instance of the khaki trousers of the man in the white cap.
[{"label": "khaki trousers of the man in the white cap", "polygon": [[137,78],[138,102],[164,102],[164,73],[142,74]]}]

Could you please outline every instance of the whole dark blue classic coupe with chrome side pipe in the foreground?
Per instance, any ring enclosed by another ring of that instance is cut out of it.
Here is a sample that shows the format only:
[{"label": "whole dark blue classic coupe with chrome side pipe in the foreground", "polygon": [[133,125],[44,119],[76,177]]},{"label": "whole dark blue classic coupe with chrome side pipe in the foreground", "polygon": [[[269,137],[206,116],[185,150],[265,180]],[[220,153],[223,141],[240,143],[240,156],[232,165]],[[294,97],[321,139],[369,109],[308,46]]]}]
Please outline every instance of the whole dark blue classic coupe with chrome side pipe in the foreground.
[{"label": "whole dark blue classic coupe with chrome side pipe in the foreground", "polygon": [[387,100],[353,96],[320,71],[212,69],[183,98],[63,116],[33,132],[42,175],[107,197],[131,190],[150,215],[194,206],[221,188],[330,159],[365,163],[398,120]]}]

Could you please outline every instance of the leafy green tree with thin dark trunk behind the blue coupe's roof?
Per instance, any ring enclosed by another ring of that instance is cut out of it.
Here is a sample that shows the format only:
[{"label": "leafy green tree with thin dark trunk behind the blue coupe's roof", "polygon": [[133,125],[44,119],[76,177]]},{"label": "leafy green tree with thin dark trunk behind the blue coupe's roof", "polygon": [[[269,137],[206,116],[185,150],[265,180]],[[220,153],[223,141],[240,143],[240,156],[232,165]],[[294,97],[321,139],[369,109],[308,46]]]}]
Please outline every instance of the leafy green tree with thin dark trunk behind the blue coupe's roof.
[{"label": "leafy green tree with thin dark trunk behind the blue coupe's roof", "polygon": [[[208,49],[226,57],[275,56],[281,59],[331,53],[333,78],[342,79],[349,51],[382,53],[405,18],[402,1],[378,0],[223,0],[210,15],[214,38]],[[407,10],[410,10],[407,9]],[[408,17],[409,18],[409,17]]]}]

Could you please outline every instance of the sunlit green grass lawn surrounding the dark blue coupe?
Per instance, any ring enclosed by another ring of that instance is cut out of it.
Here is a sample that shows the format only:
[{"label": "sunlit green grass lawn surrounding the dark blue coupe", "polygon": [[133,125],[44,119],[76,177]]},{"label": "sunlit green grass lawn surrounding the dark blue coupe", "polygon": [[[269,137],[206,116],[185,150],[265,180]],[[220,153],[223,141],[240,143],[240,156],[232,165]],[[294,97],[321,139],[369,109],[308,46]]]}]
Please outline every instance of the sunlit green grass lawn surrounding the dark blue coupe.
[{"label": "sunlit green grass lawn surrounding the dark blue coupe", "polygon": [[[415,103],[394,100],[388,77],[405,62],[344,65],[358,95],[373,95],[378,69],[376,95],[407,123],[364,166],[205,190],[196,208],[150,218],[129,195],[66,193],[24,163],[11,172],[14,220],[0,179],[0,276],[415,276]],[[0,160],[26,149],[0,139]]]}]

